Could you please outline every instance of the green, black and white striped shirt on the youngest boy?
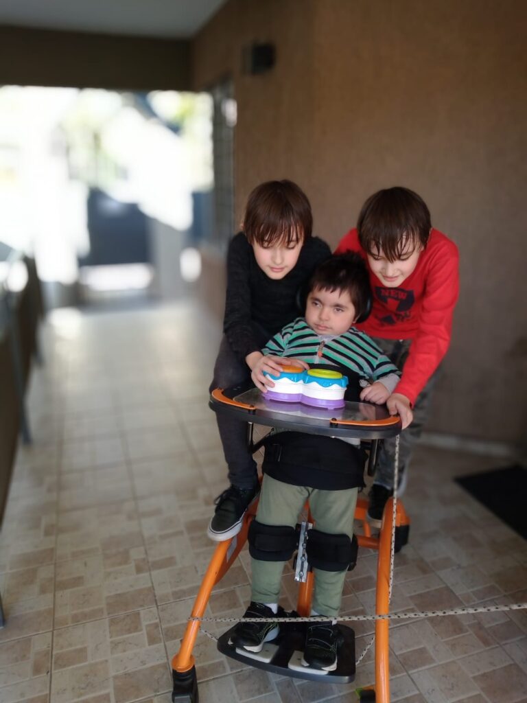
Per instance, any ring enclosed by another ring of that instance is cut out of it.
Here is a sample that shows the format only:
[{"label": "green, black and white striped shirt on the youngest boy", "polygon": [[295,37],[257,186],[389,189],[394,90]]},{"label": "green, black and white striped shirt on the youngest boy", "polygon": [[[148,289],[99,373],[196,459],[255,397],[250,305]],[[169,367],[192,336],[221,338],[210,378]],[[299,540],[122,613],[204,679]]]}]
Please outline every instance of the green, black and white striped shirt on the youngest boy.
[{"label": "green, black and white striped shirt on the youngest boy", "polygon": [[390,393],[401,375],[365,333],[352,327],[337,337],[318,335],[303,317],[285,325],[261,351],[275,356],[292,356],[309,364],[345,366],[368,382],[382,381]]}]

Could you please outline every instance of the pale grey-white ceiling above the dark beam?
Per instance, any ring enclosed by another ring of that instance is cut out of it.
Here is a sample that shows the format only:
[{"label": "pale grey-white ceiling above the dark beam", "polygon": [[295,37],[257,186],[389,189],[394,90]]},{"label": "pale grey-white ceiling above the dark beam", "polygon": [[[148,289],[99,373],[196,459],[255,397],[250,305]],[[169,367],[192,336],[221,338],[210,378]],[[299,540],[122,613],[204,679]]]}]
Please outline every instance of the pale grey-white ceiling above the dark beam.
[{"label": "pale grey-white ceiling above the dark beam", "polygon": [[226,0],[0,0],[0,25],[192,37]]}]

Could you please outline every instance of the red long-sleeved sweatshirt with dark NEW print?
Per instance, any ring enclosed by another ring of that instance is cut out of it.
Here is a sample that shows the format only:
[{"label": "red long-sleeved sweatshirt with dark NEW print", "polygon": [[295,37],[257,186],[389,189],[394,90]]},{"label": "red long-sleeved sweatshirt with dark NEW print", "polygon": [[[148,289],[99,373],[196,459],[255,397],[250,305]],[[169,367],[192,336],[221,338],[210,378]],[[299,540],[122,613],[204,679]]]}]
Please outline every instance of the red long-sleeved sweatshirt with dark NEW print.
[{"label": "red long-sleeved sweatshirt with dark NEW print", "polygon": [[[335,254],[359,252],[367,263],[356,228],[339,243]],[[459,292],[459,254],[456,245],[432,229],[417,266],[397,288],[386,288],[372,273],[373,307],[367,320],[356,325],[371,337],[412,340],[403,375],[394,392],[412,404],[434,373],[450,344],[452,317]]]}]

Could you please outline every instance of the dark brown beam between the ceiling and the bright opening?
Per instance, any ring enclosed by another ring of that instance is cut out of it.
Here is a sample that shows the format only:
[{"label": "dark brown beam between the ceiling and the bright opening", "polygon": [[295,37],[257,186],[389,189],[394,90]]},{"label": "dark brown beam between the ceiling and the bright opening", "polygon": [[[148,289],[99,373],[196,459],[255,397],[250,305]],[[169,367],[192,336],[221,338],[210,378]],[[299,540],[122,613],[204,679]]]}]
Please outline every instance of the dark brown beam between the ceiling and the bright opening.
[{"label": "dark brown beam between the ceiling and the bright opening", "polygon": [[189,90],[190,42],[0,25],[0,85]]}]

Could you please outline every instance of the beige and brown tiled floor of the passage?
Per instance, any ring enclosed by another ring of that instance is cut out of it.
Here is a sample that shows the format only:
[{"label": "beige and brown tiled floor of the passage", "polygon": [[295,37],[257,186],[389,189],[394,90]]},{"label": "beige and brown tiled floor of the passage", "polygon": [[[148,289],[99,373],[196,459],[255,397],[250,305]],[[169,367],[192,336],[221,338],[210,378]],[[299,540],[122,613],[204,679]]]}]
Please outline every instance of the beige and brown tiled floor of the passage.
[{"label": "beige and brown tiled floor of the passage", "polygon": [[[170,659],[211,556],[225,487],[207,408],[219,326],[192,304],[82,316],[56,311],[32,379],[34,445],[20,449],[0,535],[1,703],[168,703]],[[396,557],[393,610],[527,600],[527,544],[451,477],[493,458],[420,448]],[[242,614],[247,555],[209,615]],[[375,555],[349,574],[346,614],[372,613]],[[285,576],[285,605],[294,582]],[[209,626],[221,631],[221,626]],[[358,650],[372,631],[356,624]],[[526,703],[527,612],[401,621],[392,700]],[[372,683],[370,651],[338,688],[247,669],[198,638],[202,703],[335,703]]]}]

